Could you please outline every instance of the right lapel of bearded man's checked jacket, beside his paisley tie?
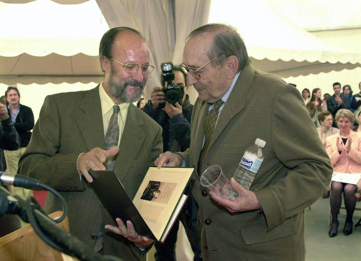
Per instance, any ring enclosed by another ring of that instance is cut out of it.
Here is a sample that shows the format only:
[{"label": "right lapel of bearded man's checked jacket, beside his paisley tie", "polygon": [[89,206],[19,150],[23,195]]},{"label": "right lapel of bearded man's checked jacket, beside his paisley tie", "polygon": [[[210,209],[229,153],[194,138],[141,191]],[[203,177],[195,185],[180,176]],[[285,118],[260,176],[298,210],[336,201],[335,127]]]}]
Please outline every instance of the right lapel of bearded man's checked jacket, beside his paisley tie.
[{"label": "right lapel of bearded man's checked jacket, beside his paisley tie", "polygon": [[141,128],[142,125],[143,119],[140,117],[138,110],[133,104],[130,104],[114,165],[114,172],[119,180],[122,180],[127,174],[146,138]]}]

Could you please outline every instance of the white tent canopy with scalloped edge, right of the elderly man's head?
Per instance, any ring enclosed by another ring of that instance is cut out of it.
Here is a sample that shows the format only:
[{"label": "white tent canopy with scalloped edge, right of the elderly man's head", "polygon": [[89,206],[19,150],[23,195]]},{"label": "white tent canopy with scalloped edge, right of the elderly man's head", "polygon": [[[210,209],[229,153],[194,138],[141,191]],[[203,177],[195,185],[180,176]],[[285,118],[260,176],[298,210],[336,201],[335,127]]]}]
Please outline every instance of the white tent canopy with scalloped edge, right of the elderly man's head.
[{"label": "white tent canopy with scalloped edge, right of the elderly man's head", "polygon": [[212,0],[209,22],[236,27],[257,69],[289,77],[360,66],[361,53],[334,47],[300,29],[268,0],[244,1],[242,13],[229,9],[230,3]]}]

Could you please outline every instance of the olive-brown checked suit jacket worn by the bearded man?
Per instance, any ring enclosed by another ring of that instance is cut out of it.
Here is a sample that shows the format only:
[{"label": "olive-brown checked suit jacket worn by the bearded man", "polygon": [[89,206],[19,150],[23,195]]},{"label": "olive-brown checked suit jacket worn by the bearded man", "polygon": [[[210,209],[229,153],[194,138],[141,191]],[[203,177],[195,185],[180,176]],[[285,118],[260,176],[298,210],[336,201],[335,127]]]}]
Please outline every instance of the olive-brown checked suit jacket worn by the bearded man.
[{"label": "olive-brown checked suit jacket worn by the bearded man", "polygon": [[[18,173],[61,191],[68,203],[71,234],[93,248],[93,233],[115,222],[85,179],[79,177],[77,158],[92,148],[105,149],[99,86],[89,91],[58,93],[45,98],[39,120]],[[130,104],[114,173],[132,199],[149,166],[162,153],[162,129],[142,110]],[[48,194],[45,211],[61,210],[59,200]],[[104,254],[123,260],[145,260],[145,252],[129,240],[104,229]]]}]

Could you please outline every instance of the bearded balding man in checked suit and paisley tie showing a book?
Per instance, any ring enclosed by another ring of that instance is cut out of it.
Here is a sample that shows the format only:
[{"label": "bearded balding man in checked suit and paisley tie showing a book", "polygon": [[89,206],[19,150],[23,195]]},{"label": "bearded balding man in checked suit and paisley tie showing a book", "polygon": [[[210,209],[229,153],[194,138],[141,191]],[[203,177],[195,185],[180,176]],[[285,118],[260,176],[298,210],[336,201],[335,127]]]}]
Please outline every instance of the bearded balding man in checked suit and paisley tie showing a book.
[{"label": "bearded balding man in checked suit and paisley tie showing a book", "polygon": [[[70,233],[95,251],[146,260],[153,240],[138,235],[130,221],[127,226],[113,221],[88,186],[88,170],[114,170],[129,197],[135,196],[163,148],[162,128],[132,104],[140,99],[154,66],[143,36],[127,27],[104,34],[99,58],[105,76],[98,86],[45,98],[18,173],[61,192]],[[47,213],[60,209],[60,202],[48,195]]]}]

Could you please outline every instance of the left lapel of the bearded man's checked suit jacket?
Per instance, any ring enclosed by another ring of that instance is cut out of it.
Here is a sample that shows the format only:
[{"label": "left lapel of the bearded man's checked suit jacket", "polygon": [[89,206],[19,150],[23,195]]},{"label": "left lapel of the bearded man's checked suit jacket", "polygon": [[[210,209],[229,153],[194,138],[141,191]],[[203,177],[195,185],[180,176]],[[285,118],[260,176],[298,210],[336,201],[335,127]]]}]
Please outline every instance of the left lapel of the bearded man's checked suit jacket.
[{"label": "left lapel of the bearded man's checked suit jacket", "polygon": [[[71,106],[71,104],[69,104],[69,106]],[[79,113],[77,124],[88,151],[95,147],[105,149],[99,85],[86,92],[79,108],[83,113]]]}]

